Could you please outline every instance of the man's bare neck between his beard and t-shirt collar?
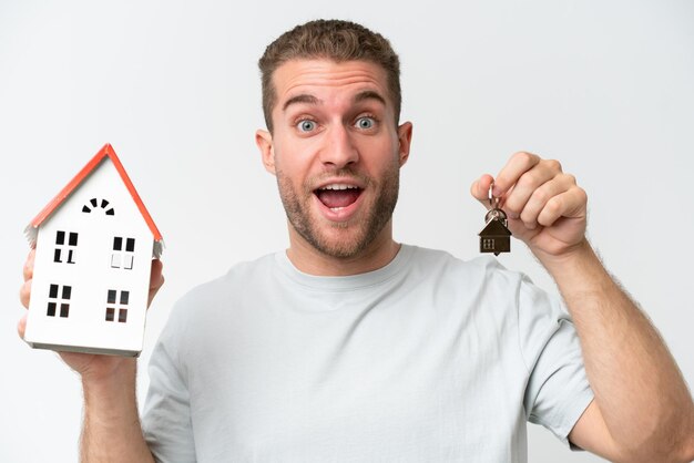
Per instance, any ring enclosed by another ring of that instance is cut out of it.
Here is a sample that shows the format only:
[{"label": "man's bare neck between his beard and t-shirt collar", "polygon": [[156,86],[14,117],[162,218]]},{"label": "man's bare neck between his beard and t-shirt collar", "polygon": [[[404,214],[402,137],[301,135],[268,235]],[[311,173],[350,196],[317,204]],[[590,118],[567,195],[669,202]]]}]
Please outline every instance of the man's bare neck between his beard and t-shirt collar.
[{"label": "man's bare neck between his beard and t-shirt collar", "polygon": [[287,257],[298,270],[319,277],[344,277],[366,274],[387,266],[400,250],[392,240],[389,223],[363,251],[351,257],[334,257],[313,247],[289,226]]}]

